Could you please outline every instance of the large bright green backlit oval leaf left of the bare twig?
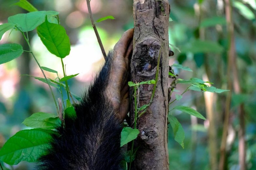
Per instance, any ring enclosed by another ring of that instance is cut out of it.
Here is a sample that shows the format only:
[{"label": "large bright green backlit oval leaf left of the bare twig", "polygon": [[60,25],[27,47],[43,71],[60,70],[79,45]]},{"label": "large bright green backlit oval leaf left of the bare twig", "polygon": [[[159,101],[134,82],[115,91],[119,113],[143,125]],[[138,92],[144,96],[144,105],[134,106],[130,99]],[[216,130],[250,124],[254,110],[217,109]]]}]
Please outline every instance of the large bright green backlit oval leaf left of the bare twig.
[{"label": "large bright green backlit oval leaf left of the bare twig", "polygon": [[52,54],[60,58],[65,58],[69,55],[69,37],[61,25],[50,23],[45,18],[45,22],[37,27],[37,34]]}]

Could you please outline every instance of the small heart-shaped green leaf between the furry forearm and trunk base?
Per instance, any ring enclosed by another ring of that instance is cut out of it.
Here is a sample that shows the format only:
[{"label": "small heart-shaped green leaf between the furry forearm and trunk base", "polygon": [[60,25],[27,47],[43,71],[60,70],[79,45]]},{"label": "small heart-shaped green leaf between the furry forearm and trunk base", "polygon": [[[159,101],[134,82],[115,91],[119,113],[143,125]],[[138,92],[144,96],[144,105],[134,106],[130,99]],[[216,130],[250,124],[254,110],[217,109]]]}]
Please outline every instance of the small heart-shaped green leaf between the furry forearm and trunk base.
[{"label": "small heart-shaped green leaf between the furry forearm and trunk base", "polygon": [[138,129],[132,129],[131,127],[124,127],[121,132],[121,146],[127,144],[128,142],[136,139],[140,131]]}]

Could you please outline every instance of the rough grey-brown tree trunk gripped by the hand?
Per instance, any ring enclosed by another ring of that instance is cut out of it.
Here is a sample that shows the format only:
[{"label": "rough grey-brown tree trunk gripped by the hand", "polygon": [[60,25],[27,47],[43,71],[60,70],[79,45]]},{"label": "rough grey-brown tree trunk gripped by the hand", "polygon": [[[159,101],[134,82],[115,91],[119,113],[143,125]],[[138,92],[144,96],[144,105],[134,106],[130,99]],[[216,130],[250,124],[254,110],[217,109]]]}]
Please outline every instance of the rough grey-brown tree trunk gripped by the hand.
[{"label": "rough grey-brown tree trunk gripped by the hand", "polygon": [[[169,169],[167,149],[169,14],[170,6],[167,0],[134,0],[131,81],[155,79],[161,46],[162,50],[153,103],[137,120],[140,134],[135,140],[134,148],[138,146],[140,148],[131,169]],[[140,86],[138,108],[149,103],[153,87],[153,84]],[[132,95],[132,90],[130,94]],[[134,122],[134,102],[131,103],[130,113],[130,120]]]}]

